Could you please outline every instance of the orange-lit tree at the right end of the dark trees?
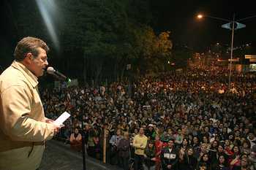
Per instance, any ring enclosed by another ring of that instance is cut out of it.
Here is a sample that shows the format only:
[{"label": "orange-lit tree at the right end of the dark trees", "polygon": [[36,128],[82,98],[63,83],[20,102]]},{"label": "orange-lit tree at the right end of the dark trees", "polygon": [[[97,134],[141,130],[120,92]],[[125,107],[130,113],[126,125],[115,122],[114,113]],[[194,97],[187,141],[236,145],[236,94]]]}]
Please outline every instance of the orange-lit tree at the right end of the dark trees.
[{"label": "orange-lit tree at the right end of the dark trees", "polygon": [[167,59],[170,57],[172,42],[170,31],[157,36],[151,27],[141,26],[134,29],[134,49],[137,67],[141,73],[159,72],[165,70]]}]

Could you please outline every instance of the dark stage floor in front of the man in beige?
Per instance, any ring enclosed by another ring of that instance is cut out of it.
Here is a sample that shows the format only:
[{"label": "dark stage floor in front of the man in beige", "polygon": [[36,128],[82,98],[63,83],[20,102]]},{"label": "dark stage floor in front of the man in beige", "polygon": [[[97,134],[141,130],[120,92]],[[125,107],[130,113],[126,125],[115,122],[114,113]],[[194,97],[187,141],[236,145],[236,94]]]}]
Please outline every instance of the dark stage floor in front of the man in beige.
[{"label": "dark stage floor in front of the man in beige", "polygon": [[102,163],[86,155],[83,169],[82,152],[70,150],[69,144],[51,140],[46,143],[39,170],[121,170],[116,166]]}]

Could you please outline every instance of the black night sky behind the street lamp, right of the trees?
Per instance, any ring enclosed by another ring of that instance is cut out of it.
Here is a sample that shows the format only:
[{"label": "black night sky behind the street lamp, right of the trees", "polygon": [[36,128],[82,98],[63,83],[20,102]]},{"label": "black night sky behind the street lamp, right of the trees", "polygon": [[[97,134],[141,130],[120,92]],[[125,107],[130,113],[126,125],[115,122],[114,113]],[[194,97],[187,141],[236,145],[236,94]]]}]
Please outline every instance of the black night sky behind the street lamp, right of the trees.
[{"label": "black night sky behind the street lamp, right of the trees", "polygon": [[[238,20],[256,15],[253,1],[162,0],[162,2],[153,8],[160,15],[157,27],[172,31],[174,44],[182,43],[195,50],[204,50],[217,42],[230,44],[231,41],[231,31],[221,28],[222,24],[228,22],[213,18],[197,20],[197,13],[203,12],[206,15],[227,20],[232,20],[234,13]],[[241,23],[244,23],[246,28],[235,31],[234,44],[252,43],[255,46],[256,18],[243,20]]]}]

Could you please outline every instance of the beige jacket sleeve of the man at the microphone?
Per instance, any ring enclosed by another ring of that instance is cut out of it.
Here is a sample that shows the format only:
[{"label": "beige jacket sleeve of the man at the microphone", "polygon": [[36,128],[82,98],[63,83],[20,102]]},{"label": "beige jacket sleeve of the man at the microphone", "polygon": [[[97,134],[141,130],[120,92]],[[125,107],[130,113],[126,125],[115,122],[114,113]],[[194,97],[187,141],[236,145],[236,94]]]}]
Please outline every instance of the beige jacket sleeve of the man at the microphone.
[{"label": "beige jacket sleeve of the man at the microphone", "polygon": [[15,85],[0,94],[0,128],[15,141],[42,142],[54,135],[54,126],[29,117],[31,93],[22,85]]}]

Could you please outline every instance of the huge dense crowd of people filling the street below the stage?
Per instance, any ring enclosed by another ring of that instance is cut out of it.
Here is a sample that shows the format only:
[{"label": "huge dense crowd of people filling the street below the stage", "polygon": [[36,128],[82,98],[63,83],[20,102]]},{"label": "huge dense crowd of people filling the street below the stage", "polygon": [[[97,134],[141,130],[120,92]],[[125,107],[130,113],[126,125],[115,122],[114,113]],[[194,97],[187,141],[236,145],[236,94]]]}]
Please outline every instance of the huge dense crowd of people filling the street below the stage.
[{"label": "huge dense crowd of people filling the street below the stage", "polygon": [[[256,169],[256,77],[192,69],[99,87],[42,90],[46,117],[67,111],[59,136],[127,170]],[[107,133],[104,133],[105,132]],[[129,162],[133,160],[133,163]]]}]

